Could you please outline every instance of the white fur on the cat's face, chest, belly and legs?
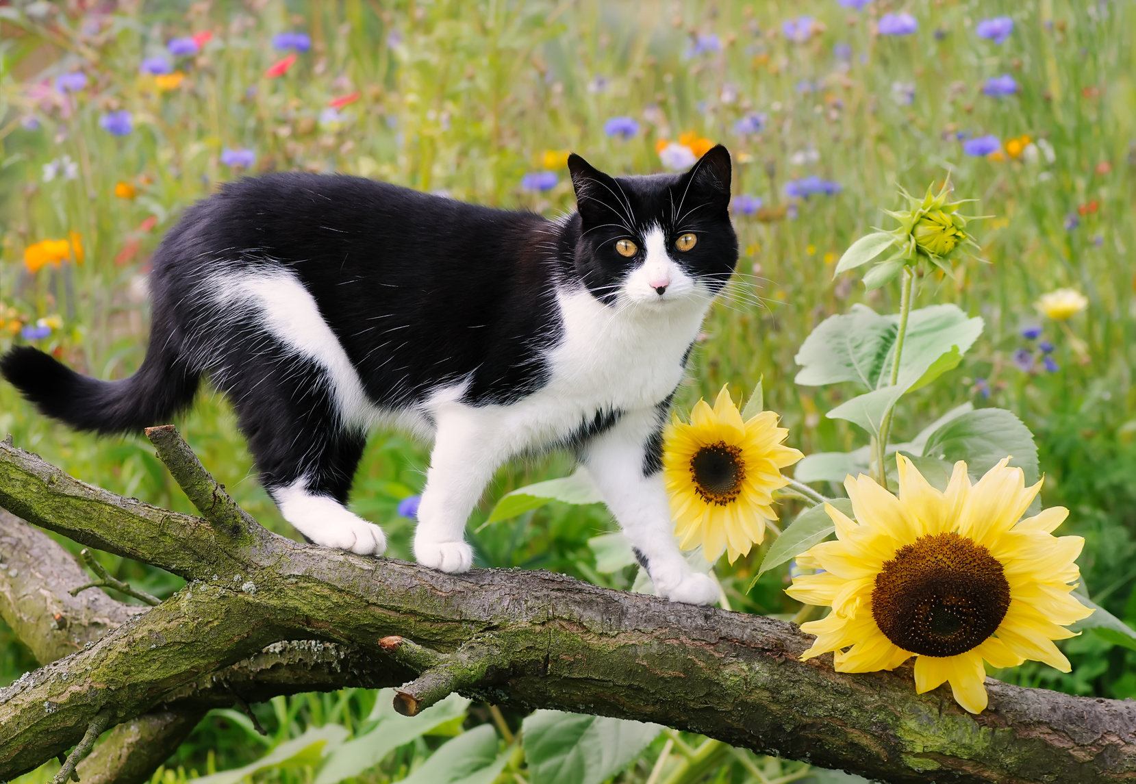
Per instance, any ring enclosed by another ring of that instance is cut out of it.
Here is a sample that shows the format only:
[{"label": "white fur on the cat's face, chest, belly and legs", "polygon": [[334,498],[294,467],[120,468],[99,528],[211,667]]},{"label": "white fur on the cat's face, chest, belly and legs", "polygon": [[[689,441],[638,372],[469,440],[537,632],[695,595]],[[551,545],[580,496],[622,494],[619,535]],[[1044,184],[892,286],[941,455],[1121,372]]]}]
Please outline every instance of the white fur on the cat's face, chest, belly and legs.
[{"label": "white fur on the cat's face, chest, belly and legs", "polygon": [[[663,278],[660,295],[652,284]],[[644,264],[627,275],[613,306],[583,287],[558,291],[562,340],[548,355],[548,383],[508,406],[462,403],[462,383],[435,390],[416,410],[382,410],[293,274],[222,273],[210,284],[218,305],[231,312],[258,312],[277,340],[326,370],[344,425],[394,424],[434,436],[414,541],[420,564],[451,573],[469,569],[466,520],[498,467],[517,453],[562,441],[598,411],[620,411],[616,426],[590,444],[588,472],[648,559],[660,595],[693,603],[717,600],[713,581],[693,573],[675,545],[661,476],[642,472],[644,444],[660,424],[657,406],[682,381],[683,357],[711,300],[674,261],[658,226],[646,235]],[[308,493],[304,479],[274,489],[273,495],[284,518],[319,544],[360,553],[386,547],[378,526],[334,499]]]}]

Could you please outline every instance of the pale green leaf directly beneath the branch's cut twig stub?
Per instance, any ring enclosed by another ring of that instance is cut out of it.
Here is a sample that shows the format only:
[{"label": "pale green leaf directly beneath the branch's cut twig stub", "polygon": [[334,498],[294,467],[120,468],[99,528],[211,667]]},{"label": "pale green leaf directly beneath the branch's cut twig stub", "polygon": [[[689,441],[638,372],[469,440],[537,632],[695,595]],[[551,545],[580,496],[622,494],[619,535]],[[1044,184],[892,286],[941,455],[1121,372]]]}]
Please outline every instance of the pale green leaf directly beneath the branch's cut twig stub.
[{"label": "pale green leaf directly beneath the branch's cut twig stub", "polygon": [[335,749],[316,777],[316,784],[337,784],[344,778],[358,776],[382,762],[384,757],[400,745],[410,743],[458,716],[463,716],[470,702],[459,694],[450,694],[417,716],[402,716],[395,712],[393,698],[393,689],[384,689],[378,693],[369,719],[377,719],[378,724],[369,732]]}]

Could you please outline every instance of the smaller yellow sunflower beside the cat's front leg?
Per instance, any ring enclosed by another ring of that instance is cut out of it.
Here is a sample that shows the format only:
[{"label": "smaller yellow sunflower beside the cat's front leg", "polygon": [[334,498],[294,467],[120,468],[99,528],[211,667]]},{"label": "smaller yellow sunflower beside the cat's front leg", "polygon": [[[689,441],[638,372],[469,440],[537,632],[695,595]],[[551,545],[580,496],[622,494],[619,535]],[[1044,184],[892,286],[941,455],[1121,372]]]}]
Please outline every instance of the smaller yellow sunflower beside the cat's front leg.
[{"label": "smaller yellow sunflower beside the cat's front leg", "polygon": [[777,519],[772,491],[788,484],[780,469],[804,457],[782,445],[787,435],[772,411],[743,422],[725,386],[713,408],[698,402],[690,424],[671,422],[662,475],[684,550],[701,544],[710,561],[728,550],[733,564],[761,543],[766,520]]}]

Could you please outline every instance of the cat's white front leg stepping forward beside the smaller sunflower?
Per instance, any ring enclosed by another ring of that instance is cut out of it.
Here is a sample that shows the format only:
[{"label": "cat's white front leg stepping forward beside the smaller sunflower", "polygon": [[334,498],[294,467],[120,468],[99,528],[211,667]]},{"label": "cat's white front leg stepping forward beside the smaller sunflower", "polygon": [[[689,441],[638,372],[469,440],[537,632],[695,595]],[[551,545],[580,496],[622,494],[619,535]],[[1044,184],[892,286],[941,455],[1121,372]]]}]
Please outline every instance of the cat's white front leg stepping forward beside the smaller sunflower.
[{"label": "cat's white front leg stepping forward beside the smaller sunflower", "polygon": [[624,415],[615,427],[590,442],[584,465],[659,595],[688,604],[712,604],[718,601],[718,585],[691,569],[683,558],[675,542],[662,473],[645,459],[659,418],[654,409]]}]

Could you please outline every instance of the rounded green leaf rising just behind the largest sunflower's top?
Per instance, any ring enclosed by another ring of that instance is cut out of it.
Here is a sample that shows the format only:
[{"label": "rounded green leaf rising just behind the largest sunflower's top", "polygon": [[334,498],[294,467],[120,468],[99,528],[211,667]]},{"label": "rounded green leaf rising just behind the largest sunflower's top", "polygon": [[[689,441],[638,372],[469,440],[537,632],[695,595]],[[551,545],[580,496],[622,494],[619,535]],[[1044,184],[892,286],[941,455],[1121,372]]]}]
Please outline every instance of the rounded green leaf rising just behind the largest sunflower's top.
[{"label": "rounded green leaf rising just behind the largest sunflower's top", "polygon": [[1034,434],[1003,408],[980,408],[951,419],[927,437],[922,453],[950,464],[966,460],[967,472],[976,481],[1010,454],[1010,465],[1021,468],[1027,485],[1039,476]]}]

